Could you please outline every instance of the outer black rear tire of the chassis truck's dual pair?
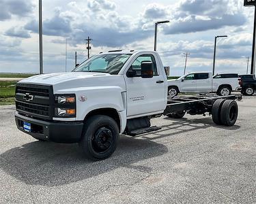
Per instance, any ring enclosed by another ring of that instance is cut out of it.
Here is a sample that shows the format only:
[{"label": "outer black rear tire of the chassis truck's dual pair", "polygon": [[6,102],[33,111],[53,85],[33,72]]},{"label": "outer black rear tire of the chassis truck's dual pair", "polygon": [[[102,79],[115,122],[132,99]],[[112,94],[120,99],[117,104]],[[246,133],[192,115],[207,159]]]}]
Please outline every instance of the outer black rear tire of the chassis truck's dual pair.
[{"label": "outer black rear tire of the chassis truck's dual pair", "polygon": [[238,103],[226,100],[221,107],[221,123],[225,126],[233,126],[238,119]]}]

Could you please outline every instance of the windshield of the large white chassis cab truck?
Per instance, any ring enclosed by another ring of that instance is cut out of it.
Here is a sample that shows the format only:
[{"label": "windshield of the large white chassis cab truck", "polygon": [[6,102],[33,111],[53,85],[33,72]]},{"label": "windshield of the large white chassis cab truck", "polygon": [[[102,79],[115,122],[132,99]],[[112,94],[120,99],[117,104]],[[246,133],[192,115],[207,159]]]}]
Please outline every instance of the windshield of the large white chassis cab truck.
[{"label": "windshield of the large white chassis cab truck", "polygon": [[132,54],[100,54],[76,67],[77,72],[102,72],[117,75]]}]

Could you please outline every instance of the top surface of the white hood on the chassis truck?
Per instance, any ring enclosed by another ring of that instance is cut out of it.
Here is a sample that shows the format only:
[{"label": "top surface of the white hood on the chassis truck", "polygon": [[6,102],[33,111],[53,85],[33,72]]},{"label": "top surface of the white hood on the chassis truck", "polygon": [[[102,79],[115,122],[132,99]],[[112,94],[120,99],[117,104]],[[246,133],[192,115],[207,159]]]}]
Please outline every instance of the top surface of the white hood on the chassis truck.
[{"label": "top surface of the white hood on the chassis truck", "polygon": [[96,78],[99,76],[109,76],[109,73],[98,73],[98,72],[67,72],[67,73],[48,73],[42,75],[35,75],[30,78],[21,80],[21,83],[26,84],[48,84],[55,85],[70,80],[85,80],[87,78]]}]

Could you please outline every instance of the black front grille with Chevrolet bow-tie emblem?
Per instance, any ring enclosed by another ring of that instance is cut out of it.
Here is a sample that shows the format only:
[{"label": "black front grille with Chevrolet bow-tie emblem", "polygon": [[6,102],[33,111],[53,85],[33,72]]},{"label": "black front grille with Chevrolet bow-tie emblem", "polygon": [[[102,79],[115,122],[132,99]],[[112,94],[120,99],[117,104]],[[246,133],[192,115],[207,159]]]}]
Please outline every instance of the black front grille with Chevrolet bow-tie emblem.
[{"label": "black front grille with Chevrolet bow-tie emblem", "polygon": [[53,87],[37,84],[16,85],[16,110],[33,118],[53,118]]}]

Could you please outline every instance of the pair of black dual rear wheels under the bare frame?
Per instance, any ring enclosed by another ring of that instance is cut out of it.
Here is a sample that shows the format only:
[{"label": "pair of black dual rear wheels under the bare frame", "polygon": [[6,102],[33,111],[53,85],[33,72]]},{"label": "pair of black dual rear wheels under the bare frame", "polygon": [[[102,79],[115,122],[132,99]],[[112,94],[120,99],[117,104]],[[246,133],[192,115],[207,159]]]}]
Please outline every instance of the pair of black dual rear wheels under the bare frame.
[{"label": "pair of black dual rear wheels under the bare frame", "polygon": [[212,120],[215,124],[233,126],[238,119],[238,103],[233,100],[218,99],[212,106]]}]

